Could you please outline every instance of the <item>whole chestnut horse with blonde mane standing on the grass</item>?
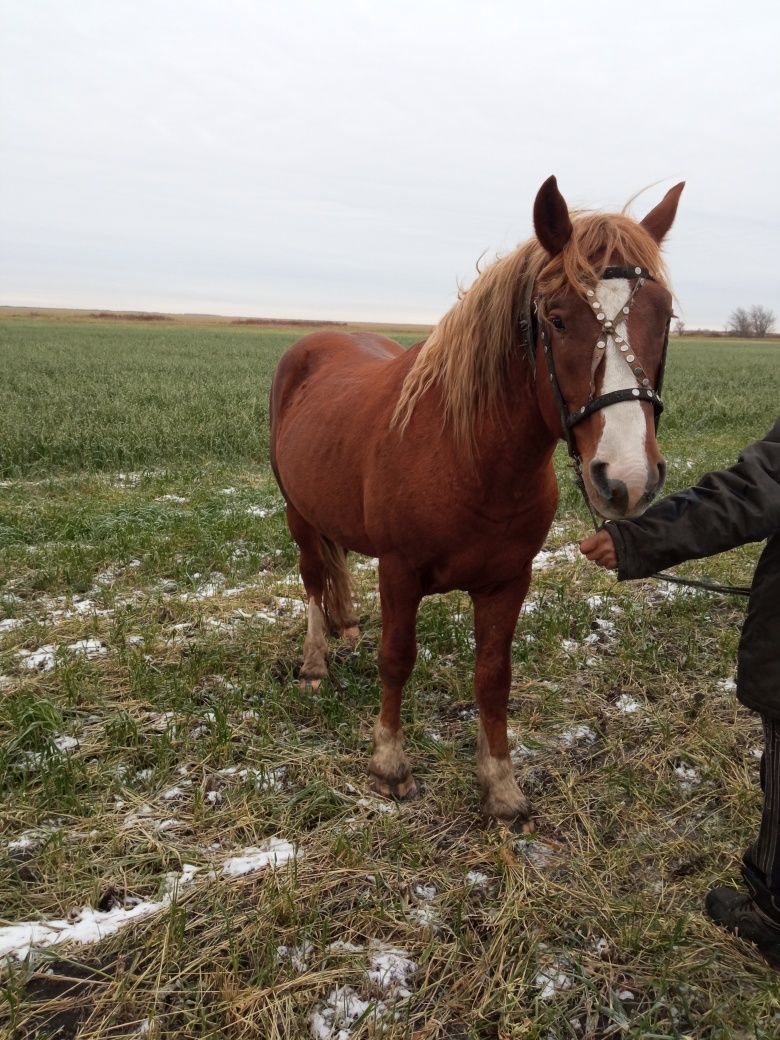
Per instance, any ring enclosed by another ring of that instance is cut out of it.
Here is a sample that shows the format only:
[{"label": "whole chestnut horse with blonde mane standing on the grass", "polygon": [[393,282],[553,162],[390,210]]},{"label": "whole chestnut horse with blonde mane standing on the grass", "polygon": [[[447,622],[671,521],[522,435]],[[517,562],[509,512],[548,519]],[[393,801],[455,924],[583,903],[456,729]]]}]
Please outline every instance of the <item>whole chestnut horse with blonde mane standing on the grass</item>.
[{"label": "whole chestnut horse with blonde mane standing on the grass", "polygon": [[423,596],[474,613],[476,776],[487,816],[534,829],[506,734],[511,652],[531,561],[557,504],[563,437],[601,517],[638,516],[664,483],[656,422],[672,317],[661,242],[684,182],[643,220],[569,211],[554,177],[535,236],[494,260],[421,343],[317,332],[270,394],[270,460],[308,599],[302,682],[327,675],[329,630],[359,635],[346,554],[379,557],[374,790],[418,795],[400,706]]}]

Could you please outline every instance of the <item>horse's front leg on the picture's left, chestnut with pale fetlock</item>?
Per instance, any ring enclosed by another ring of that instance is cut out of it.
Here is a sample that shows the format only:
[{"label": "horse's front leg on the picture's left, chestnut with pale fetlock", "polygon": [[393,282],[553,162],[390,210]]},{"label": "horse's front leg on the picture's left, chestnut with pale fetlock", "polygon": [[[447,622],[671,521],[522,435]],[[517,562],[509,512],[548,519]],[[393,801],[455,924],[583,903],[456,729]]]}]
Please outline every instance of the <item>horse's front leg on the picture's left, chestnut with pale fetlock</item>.
[{"label": "horse's front leg on the picture's left, chestnut with pale fetlock", "polygon": [[400,702],[417,659],[417,607],[422,598],[418,576],[401,561],[382,556],[380,597],[382,706],[373,728],[373,757],[368,771],[378,794],[412,799],[417,796],[417,782],[404,751]]}]

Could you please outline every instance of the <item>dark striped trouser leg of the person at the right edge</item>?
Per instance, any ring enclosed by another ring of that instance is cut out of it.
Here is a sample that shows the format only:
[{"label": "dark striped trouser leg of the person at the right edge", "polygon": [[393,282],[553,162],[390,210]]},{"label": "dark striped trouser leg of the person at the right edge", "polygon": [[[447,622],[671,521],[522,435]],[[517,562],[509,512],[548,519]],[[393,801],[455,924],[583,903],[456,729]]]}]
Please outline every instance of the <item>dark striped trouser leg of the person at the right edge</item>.
[{"label": "dark striped trouser leg of the person at the right edge", "polygon": [[761,829],[743,857],[743,878],[754,902],[780,921],[780,722],[764,717],[761,721]]}]

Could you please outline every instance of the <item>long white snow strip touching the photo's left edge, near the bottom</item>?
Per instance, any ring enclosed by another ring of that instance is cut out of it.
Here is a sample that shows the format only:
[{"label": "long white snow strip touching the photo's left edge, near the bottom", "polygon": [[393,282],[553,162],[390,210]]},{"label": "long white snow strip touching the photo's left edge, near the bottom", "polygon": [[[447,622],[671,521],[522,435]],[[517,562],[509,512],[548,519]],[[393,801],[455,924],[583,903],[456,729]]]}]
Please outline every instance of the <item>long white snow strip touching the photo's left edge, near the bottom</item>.
[{"label": "long white snow strip touching the photo's left edge, near the bottom", "polygon": [[43,950],[63,942],[98,942],[134,920],[164,910],[178,891],[192,881],[197,869],[191,864],[185,864],[180,875],[168,876],[162,896],[156,903],[140,901],[131,907],[114,907],[111,910],[95,910],[85,906],[70,919],[20,921],[0,928],[0,958],[21,961],[33,948]]}]

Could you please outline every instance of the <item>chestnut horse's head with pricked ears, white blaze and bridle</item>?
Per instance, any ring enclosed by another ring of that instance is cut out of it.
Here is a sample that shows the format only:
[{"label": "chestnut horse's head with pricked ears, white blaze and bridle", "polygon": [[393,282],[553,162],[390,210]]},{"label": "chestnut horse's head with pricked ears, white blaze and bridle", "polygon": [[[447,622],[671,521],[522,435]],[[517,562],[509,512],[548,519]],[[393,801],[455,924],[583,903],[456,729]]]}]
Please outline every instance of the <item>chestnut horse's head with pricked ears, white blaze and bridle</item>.
[{"label": "chestnut horse's head with pricked ears, white blaze and bridle", "polygon": [[672,296],[659,246],[684,183],[641,222],[570,214],[554,177],[534,225],[543,263],[528,287],[538,399],[562,435],[594,510],[641,514],[664,484],[655,439]]}]

